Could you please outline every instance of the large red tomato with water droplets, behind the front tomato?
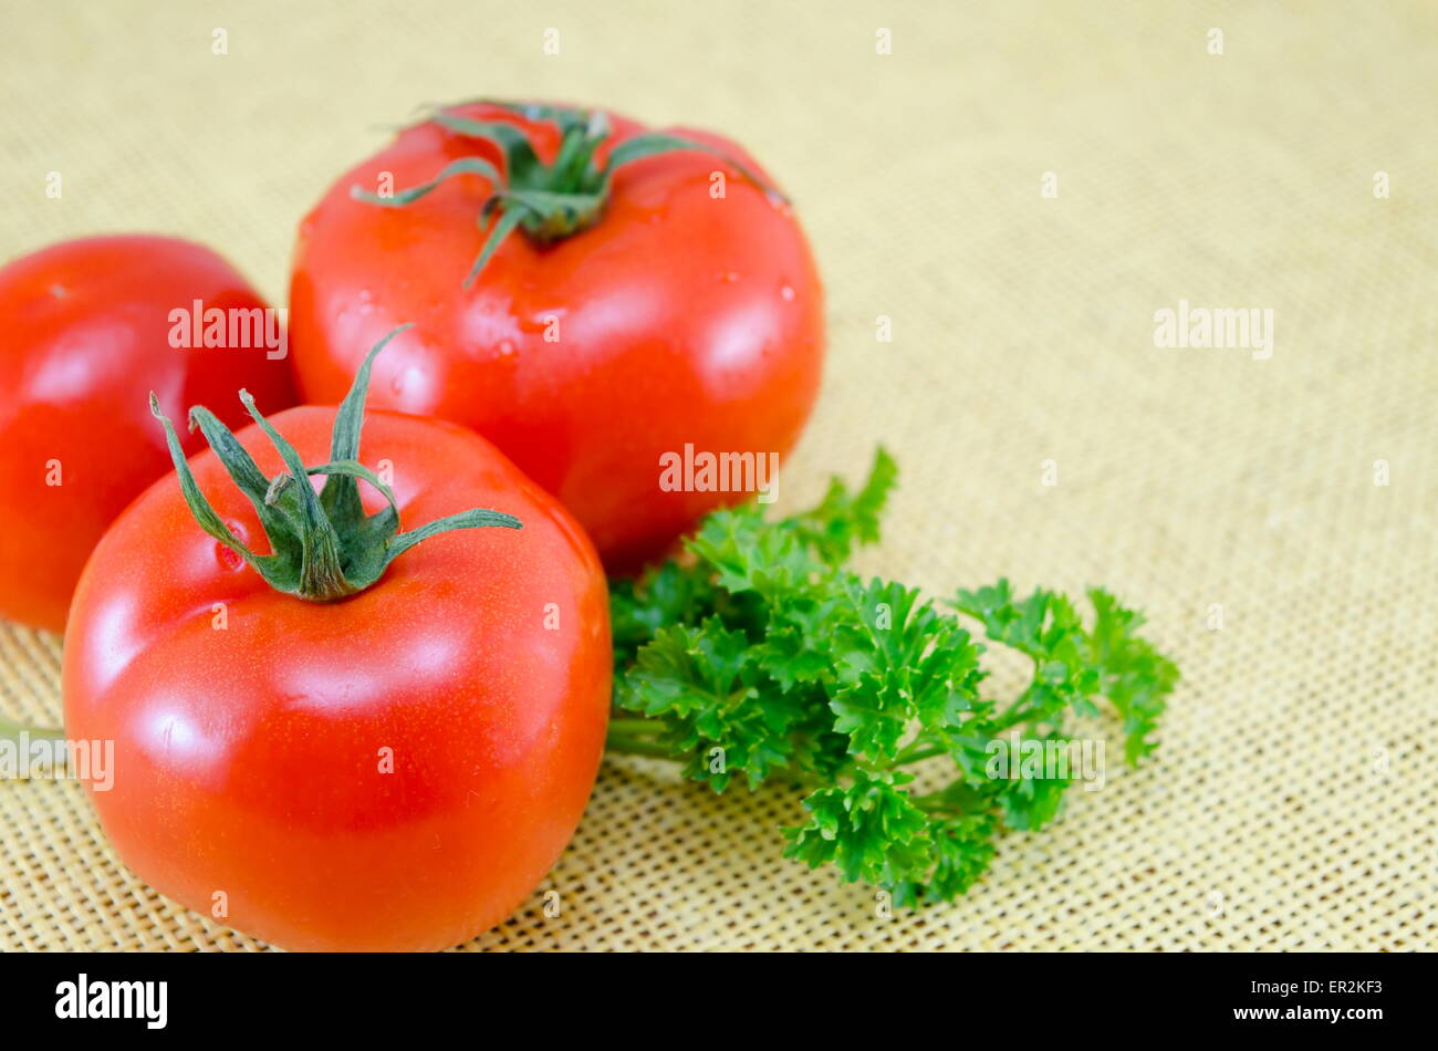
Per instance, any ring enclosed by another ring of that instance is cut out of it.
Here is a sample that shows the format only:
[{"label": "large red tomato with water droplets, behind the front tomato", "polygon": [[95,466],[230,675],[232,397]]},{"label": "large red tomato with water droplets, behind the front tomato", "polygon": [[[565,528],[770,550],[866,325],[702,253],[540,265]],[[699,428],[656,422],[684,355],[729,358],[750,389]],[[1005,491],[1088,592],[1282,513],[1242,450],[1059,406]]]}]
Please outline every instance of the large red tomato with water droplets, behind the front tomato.
[{"label": "large red tomato with water droplets, behind the front tomato", "polygon": [[[792,210],[759,185],[752,158],[718,135],[683,137],[693,148],[631,150],[601,183],[615,154],[663,137],[613,114],[498,104],[403,131],[301,224],[290,332],[306,400],[336,400],[358,348],[414,322],[377,365],[374,404],[490,439],[574,512],[611,569],[743,499],[758,479],[674,487],[661,457],[789,451],[818,391],[823,293]],[[565,177],[561,150],[592,161]],[[400,193],[456,161],[469,168],[433,193]],[[526,211],[510,193],[519,181],[554,193],[523,197]],[[390,187],[390,201],[352,196]],[[486,239],[515,216],[525,223],[466,288]]]}]

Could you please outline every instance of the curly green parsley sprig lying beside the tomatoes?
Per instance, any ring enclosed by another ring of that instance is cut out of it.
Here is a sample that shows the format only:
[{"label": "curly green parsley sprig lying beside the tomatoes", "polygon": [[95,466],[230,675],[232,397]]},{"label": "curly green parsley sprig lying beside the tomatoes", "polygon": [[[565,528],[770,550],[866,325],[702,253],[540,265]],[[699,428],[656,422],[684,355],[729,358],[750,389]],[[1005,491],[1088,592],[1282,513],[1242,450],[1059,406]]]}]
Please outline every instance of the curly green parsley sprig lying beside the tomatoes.
[{"label": "curly green parsley sprig lying beside the tomatoes", "polygon": [[[879,450],[857,493],[835,479],[817,508],[777,522],[758,505],[715,512],[682,561],[615,581],[610,751],[677,759],[716,792],[735,778],[801,786],[808,820],[784,830],[785,854],[913,904],[968,890],[1002,827],[1037,830],[1058,812],[1070,772],[995,775],[995,755],[1067,745],[1071,717],[1104,697],[1133,765],[1155,748],[1178,669],[1102,589],[1086,623],[1064,595],[1018,597],[1007,579],[940,610],[846,569],[879,539],[896,477]],[[1030,658],[1012,702],[981,692],[985,646],[961,615]],[[919,792],[913,766],[939,758],[948,784]]]}]

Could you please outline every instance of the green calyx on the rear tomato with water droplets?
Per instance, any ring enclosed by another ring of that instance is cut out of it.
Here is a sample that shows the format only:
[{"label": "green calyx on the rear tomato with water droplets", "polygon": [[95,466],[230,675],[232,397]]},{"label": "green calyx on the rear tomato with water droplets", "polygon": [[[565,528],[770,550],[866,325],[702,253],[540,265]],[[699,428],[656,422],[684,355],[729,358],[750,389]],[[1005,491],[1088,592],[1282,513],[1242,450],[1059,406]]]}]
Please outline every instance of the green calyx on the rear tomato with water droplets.
[{"label": "green calyx on the rear tomato with water droplets", "polygon": [[[784,194],[748,167],[706,142],[663,131],[643,132],[615,145],[605,164],[600,167],[595,161],[595,152],[611,131],[608,118],[603,112],[574,106],[516,105],[493,99],[476,99],[476,102],[500,106],[526,121],[552,121],[561,134],[559,151],[554,161],[551,164],[541,161],[529,137],[516,125],[505,121],[480,121],[456,112],[460,106],[473,105],[462,102],[434,108],[427,119],[457,135],[485,139],[499,147],[505,157],[503,173],[482,157],[462,157],[440,168],[429,183],[388,197],[370,193],[358,185],[349,190],[349,196],[357,201],[403,208],[456,175],[469,174],[487,178],[493,193],[480,206],[479,226],[483,230],[487,224],[489,236],[464,277],[466,289],[475,283],[489,257],[516,229],[522,230],[535,244],[546,246],[598,223],[610,198],[614,173],[626,164],[646,157],[680,150],[713,154],[764,190],[772,201],[788,203]],[[493,221],[490,221],[492,219]]]}]

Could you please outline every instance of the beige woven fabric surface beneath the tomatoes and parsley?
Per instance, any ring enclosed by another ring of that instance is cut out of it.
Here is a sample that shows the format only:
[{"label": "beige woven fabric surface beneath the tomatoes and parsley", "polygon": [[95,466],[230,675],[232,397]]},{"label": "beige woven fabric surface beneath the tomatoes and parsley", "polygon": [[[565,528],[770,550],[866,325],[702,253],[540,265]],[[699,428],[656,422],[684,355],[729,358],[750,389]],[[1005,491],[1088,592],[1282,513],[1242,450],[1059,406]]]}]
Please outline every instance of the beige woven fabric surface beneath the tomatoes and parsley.
[{"label": "beige woven fabric surface beneath the tomatoes and parsley", "polygon": [[[557,98],[735,135],[798,201],[828,289],[824,394],[781,509],[883,440],[903,487],[866,568],[933,594],[1102,582],[1183,669],[1156,761],[1007,835],[956,904],[880,919],[870,890],[779,857],[789,797],[618,761],[544,887],[561,914],[536,893],[467,947],[1438,945],[1434,4],[0,19],[0,254],[173,231],[278,302],[299,217],[417,102]],[[1181,299],[1271,309],[1273,355],[1155,348]],[[58,657],[0,628],[0,712],[58,717]],[[265,947],[127,873],[73,784],[0,784],[0,880],[3,949]]]}]

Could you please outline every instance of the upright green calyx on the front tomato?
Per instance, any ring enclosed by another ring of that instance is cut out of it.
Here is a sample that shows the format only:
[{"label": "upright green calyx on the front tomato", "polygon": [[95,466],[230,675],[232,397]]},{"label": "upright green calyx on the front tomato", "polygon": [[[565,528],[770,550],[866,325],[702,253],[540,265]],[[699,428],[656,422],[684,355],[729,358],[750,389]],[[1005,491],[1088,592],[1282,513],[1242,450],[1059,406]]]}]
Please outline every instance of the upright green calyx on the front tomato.
[{"label": "upright green calyx on the front tomato", "polygon": [[[378,474],[360,463],[360,431],[364,426],[371,365],[380,351],[407,328],[410,326],[403,325],[377,342],[355,374],[354,385],[335,416],[329,463],[306,467],[295,447],[255,407],[249,391],[240,391],[240,401],[285,460],[286,470],[273,479],[265,477],[214,413],[203,405],[190,410],[190,430],[200,428],[230,479],[253,505],[270,543],[269,555],[250,551],[210,506],[186,462],[174,426],[160,410],[154,393],[150,395],[150,411],[165,430],[170,457],[180,476],[180,492],[190,513],[201,529],[243,558],[278,591],[316,602],[348,598],[378,581],[390,562],[401,554],[436,533],[483,526],[521,528],[513,515],[475,509],[447,515],[401,533],[394,493]],[[318,493],[309,483],[311,474],[325,476],[324,489]],[[364,513],[360,479],[384,496],[387,506],[383,510]]]}]

